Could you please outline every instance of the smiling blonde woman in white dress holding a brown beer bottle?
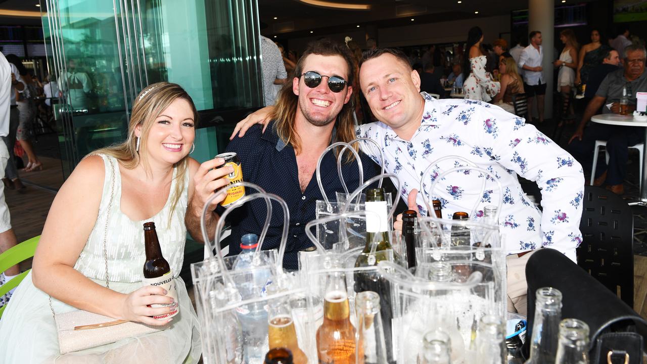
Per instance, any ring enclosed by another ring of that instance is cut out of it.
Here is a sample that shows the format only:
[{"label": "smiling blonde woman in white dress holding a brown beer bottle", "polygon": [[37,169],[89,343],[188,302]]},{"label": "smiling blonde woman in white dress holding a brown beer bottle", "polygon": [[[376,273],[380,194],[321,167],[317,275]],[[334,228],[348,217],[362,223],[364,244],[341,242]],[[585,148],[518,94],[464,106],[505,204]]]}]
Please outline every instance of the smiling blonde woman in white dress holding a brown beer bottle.
[{"label": "smiling blonde woman in white dress holding a brown beer bottle", "polygon": [[[0,321],[0,361],[197,363],[197,316],[179,277],[184,216],[195,190],[194,175],[222,161],[199,166],[188,156],[196,121],[193,101],[182,87],[149,85],[135,99],[126,141],[97,150],[76,166],[52,203],[33,269]],[[230,171],[212,170],[211,187],[226,185],[221,177]],[[155,222],[162,254],[175,276],[180,313],[172,319],[151,317],[170,308],[149,305],[172,299],[160,287],[142,286],[144,222]],[[168,328],[60,356],[52,310],[76,309]]]}]

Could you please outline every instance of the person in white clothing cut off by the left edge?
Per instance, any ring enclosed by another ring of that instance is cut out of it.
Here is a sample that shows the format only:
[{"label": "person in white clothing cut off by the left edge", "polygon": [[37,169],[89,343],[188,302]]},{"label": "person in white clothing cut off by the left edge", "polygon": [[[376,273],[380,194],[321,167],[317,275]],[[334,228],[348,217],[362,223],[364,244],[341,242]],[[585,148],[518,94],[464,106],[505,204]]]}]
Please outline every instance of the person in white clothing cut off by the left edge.
[{"label": "person in white clothing cut off by the left edge", "polygon": [[[16,76],[12,72],[11,63],[7,62],[5,55],[0,53],[0,136],[3,137],[3,142],[0,142],[0,174],[2,174],[2,177],[4,177],[5,167],[9,162],[9,152],[4,142],[5,137],[9,133],[9,120],[14,117],[14,113],[16,119],[18,118],[18,109],[14,108],[12,104],[12,94],[15,95],[15,89],[24,89],[23,87],[23,84],[16,80]],[[13,102],[14,104],[16,103],[15,96],[13,97]],[[15,245],[16,234],[14,234],[14,230],[11,228],[9,208],[5,202],[5,190],[0,188],[0,253],[4,253],[7,249]],[[19,273],[20,271],[17,265],[11,266],[3,273],[0,273],[0,286]],[[0,307],[6,304],[11,293],[13,293],[13,290],[7,295],[0,297]]]}]

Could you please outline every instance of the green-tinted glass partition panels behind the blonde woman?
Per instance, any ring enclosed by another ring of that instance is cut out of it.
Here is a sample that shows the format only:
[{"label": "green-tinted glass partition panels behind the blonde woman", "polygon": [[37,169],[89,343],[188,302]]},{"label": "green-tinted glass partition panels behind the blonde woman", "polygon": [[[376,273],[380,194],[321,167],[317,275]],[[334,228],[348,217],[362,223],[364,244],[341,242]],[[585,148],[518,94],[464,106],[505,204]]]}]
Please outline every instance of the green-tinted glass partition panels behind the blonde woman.
[{"label": "green-tinted glass partition panels behind the blonde woman", "polygon": [[180,84],[207,113],[263,105],[256,1],[41,1],[66,177],[125,139],[148,84]]}]

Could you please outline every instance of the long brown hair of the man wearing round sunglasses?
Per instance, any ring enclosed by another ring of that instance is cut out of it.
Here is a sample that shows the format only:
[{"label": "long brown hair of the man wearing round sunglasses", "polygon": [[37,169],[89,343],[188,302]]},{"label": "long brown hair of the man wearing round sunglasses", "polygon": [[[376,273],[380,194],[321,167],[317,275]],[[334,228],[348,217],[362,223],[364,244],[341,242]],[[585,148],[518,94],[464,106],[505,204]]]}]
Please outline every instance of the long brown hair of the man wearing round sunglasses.
[{"label": "long brown hair of the man wearing round sunglasses", "polygon": [[[322,40],[313,41],[309,43],[305,52],[299,61],[296,63],[294,74],[292,77],[300,78],[303,71],[303,63],[310,54],[318,54],[320,56],[341,56],[344,58],[348,66],[347,85],[353,85],[355,80],[355,64],[353,62],[353,55],[344,44],[323,38]],[[307,71],[307,70],[306,70]],[[322,81],[323,82],[323,81]],[[357,91],[355,91],[357,92]],[[276,104],[274,104],[274,111],[272,111],[272,119],[274,120],[274,130],[285,144],[291,144],[294,152],[299,154],[301,150],[301,139],[294,126],[294,118],[296,117],[296,108],[299,107],[299,97],[294,95],[292,91],[292,82],[288,80],[281,87],[279,91]],[[336,132],[333,142],[349,142],[355,139],[355,120],[353,119],[353,103],[347,102],[342,107],[342,110],[337,115],[335,121]],[[358,150],[358,145],[353,145],[355,150]],[[335,151],[335,154],[337,151]],[[348,154],[347,161],[355,159],[352,153]]]}]

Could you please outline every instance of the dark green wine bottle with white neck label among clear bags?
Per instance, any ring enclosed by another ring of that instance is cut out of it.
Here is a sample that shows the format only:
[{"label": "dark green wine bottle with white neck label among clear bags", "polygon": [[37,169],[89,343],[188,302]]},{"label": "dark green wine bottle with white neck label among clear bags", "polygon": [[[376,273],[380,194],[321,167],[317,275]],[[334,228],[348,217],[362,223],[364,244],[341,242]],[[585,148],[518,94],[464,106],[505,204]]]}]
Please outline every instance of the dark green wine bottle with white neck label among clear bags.
[{"label": "dark green wine bottle with white neck label among clear bags", "polygon": [[[366,192],[366,211],[375,214],[366,215],[366,245],[357,257],[355,267],[375,266],[382,260],[394,260],[400,263],[400,256],[395,254],[389,241],[388,219],[384,188],[369,188]],[[404,265],[404,264],[402,264]],[[355,292],[373,291],[380,296],[382,324],[388,362],[395,363],[391,337],[391,286],[377,271],[356,271]]]}]

